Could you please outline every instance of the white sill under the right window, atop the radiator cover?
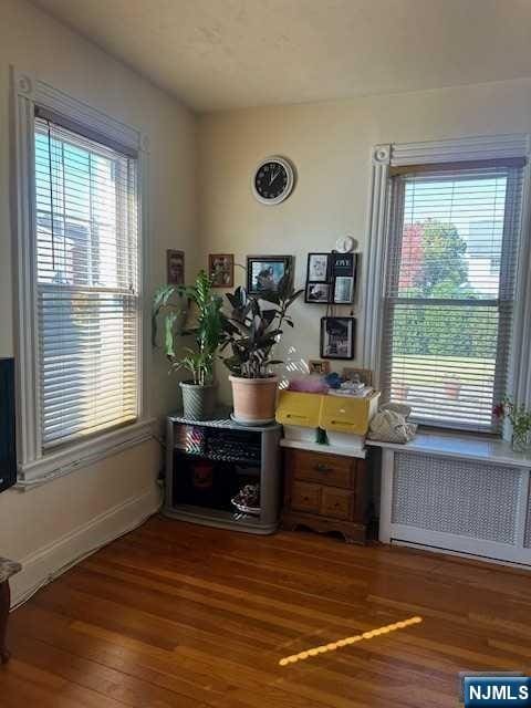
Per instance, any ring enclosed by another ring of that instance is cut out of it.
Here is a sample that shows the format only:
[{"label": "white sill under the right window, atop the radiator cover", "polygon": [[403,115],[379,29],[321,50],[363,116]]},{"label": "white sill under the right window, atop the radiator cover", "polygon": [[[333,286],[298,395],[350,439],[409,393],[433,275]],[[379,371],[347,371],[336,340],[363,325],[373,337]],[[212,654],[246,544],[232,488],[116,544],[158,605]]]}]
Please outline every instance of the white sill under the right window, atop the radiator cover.
[{"label": "white sill under the right window, atop the radiator cover", "polygon": [[514,452],[511,445],[503,440],[478,438],[461,433],[418,433],[410,442],[404,445],[379,440],[366,440],[366,445],[403,452],[531,468],[531,452]]}]

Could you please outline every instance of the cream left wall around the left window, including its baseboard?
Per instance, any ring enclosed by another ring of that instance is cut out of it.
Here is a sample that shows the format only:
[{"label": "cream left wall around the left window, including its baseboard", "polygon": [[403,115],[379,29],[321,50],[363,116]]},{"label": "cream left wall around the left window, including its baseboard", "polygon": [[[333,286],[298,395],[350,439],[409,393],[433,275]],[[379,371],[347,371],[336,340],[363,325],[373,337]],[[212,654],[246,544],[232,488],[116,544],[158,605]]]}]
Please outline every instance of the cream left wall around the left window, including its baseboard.
[{"label": "cream left wall around the left window, including its baseboard", "polygon": [[[195,117],[166,94],[25,0],[0,3],[0,356],[12,356],[9,65],[149,136],[149,251],[152,291],[165,282],[165,250],[187,252],[197,266]],[[149,379],[153,413],[178,400],[158,357]],[[158,444],[147,442],[29,492],[0,494],[0,555],[27,561],[15,596],[88,544],[105,540],[156,508]],[[96,528],[97,527],[97,528]]]}]

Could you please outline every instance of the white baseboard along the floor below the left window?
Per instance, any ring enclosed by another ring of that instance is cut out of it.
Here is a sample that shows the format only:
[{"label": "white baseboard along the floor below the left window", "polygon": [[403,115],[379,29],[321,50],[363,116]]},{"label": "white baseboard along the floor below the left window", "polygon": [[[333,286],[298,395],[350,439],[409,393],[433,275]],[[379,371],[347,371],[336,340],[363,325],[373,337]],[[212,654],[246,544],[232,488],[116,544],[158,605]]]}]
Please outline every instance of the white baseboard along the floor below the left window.
[{"label": "white baseboard along the floor below the left window", "polygon": [[19,605],[39,587],[54,580],[100,546],[140,525],[160,508],[159,488],[131,497],[121,504],[94,517],[20,562],[22,572],[11,581],[11,604]]}]

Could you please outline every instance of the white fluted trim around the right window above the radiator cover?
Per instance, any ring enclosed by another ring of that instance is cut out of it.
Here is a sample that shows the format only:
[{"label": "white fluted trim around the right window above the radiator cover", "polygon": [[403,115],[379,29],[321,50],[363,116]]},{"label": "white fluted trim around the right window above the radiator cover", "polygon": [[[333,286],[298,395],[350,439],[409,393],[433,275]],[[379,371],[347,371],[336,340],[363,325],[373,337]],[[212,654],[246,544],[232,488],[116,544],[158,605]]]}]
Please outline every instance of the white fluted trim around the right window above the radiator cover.
[{"label": "white fluted trim around the right window above the radiator cover", "polygon": [[[508,391],[518,404],[531,407],[531,364],[524,352],[531,351],[531,324],[525,322],[525,309],[531,308],[530,263],[530,135],[473,136],[426,143],[394,143],[372,148],[372,174],[368,195],[367,241],[364,259],[364,291],[362,293],[362,365],[374,372],[379,386],[382,373],[382,336],[384,325],[385,281],[389,254],[389,226],[392,223],[393,167],[410,165],[458,164],[477,160],[525,158],[523,194],[520,215],[520,257],[516,277],[512,356],[509,362]],[[529,310],[528,310],[529,311]],[[430,426],[431,427],[431,426]],[[454,429],[460,433],[466,429]],[[451,434],[451,430],[448,429]],[[485,435],[485,434],[482,434]],[[510,430],[503,428],[508,439]]]}]

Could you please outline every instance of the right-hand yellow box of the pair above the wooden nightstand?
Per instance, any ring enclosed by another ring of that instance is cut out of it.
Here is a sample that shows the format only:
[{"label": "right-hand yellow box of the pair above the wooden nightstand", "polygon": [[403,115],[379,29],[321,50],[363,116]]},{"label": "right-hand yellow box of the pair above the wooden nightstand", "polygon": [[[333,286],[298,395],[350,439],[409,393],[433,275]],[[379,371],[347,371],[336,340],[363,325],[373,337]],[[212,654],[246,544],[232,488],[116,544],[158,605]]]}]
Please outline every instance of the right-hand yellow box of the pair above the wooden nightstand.
[{"label": "right-hand yellow box of the pair above the wooden nightstand", "polygon": [[379,392],[368,398],[323,396],[319,425],[325,430],[365,435],[378,409]]}]

